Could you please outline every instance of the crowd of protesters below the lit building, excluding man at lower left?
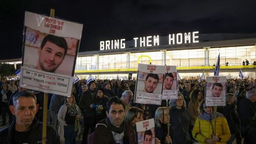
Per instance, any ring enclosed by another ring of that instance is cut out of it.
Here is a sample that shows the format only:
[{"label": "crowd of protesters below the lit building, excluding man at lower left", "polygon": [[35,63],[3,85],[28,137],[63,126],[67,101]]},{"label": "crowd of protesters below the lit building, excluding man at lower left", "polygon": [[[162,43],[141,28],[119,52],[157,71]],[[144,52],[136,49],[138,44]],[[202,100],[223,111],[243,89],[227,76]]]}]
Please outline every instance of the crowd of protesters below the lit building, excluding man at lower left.
[{"label": "crowd of protesters below the lit building, excluding man at lower left", "polygon": [[[12,95],[28,90],[18,81],[0,83],[1,126],[7,126],[7,114],[9,124],[15,121],[9,110]],[[205,82],[198,78],[179,80],[178,99],[168,107],[166,101],[134,103],[135,85],[133,80],[82,79],[73,85],[71,97],[50,95],[51,124],[60,142],[75,143],[76,136],[82,136],[82,143],[138,143],[136,122],[155,118],[155,143],[256,143],[255,79],[228,79],[223,107],[206,106]],[[36,117],[42,121],[43,93],[34,95]]]}]

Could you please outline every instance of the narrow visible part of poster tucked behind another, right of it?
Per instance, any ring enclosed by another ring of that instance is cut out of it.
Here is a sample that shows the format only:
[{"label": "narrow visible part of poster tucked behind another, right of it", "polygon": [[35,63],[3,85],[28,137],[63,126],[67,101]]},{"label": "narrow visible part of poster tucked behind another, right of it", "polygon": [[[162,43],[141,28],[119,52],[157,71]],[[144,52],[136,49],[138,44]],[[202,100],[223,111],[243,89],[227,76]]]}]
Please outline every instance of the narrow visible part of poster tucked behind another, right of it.
[{"label": "narrow visible part of poster tucked behind another, right of it", "polygon": [[178,99],[176,66],[165,66],[162,100]]}]

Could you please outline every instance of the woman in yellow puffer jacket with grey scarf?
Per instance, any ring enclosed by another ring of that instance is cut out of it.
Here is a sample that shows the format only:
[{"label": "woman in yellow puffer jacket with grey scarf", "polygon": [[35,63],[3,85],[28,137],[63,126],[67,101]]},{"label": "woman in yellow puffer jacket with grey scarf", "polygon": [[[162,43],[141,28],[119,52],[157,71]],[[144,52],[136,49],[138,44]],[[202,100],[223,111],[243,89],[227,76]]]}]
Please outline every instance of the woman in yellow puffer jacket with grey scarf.
[{"label": "woman in yellow puffer jacket with grey scarf", "polygon": [[194,139],[199,144],[228,142],[231,133],[226,118],[222,114],[217,113],[213,107],[207,107],[204,100],[201,102],[199,110],[200,114],[192,131]]}]

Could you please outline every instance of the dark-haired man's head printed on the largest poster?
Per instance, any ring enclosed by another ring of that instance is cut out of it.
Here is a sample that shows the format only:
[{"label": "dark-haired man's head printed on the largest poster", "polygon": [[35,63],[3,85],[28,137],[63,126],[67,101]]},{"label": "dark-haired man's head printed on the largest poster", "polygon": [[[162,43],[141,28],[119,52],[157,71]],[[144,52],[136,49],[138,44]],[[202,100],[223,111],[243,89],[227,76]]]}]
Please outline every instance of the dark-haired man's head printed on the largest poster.
[{"label": "dark-haired man's head printed on the largest poster", "polygon": [[63,37],[53,36],[52,34],[44,37],[40,49],[38,49],[39,60],[37,69],[46,72],[55,72],[68,50],[68,44]]}]

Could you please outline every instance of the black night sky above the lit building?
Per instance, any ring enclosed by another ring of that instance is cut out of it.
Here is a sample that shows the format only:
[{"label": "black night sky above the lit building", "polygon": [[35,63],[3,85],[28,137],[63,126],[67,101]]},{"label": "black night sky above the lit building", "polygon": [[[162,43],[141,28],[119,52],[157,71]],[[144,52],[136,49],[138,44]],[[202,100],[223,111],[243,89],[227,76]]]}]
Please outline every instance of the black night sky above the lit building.
[{"label": "black night sky above the lit building", "polygon": [[84,1],[1,0],[0,59],[20,58],[24,11],[84,24],[80,52],[99,50],[101,40],[167,36],[199,31],[256,33],[256,1]]}]

